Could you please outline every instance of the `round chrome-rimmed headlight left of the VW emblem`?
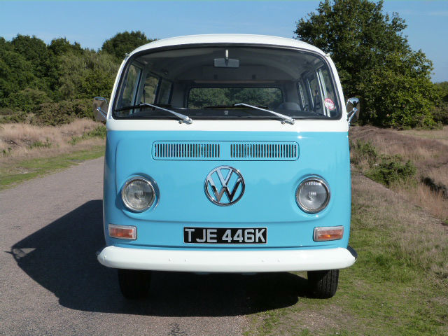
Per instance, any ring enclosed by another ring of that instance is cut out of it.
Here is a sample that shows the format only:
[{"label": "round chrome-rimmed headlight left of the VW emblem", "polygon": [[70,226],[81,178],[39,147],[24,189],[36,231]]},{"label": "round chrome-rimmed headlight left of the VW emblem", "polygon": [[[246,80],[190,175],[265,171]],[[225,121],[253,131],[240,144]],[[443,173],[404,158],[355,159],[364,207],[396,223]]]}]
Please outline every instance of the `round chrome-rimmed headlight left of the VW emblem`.
[{"label": "round chrome-rimmed headlight left of the VW emblem", "polygon": [[134,177],[125,183],[121,190],[121,198],[128,209],[136,212],[145,211],[155,200],[154,187],[143,177]]}]

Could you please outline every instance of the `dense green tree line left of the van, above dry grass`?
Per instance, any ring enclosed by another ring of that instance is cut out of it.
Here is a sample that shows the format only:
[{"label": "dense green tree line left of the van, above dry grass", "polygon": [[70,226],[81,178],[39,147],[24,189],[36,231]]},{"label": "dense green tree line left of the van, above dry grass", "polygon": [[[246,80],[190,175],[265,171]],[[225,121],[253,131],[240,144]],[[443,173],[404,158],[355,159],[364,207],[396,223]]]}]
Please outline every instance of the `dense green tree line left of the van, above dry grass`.
[{"label": "dense green tree line left of the van, above dry grass", "polygon": [[149,43],[141,31],[118,33],[100,50],[66,38],[0,37],[0,120],[59,125],[92,117],[92,98],[110,97],[126,52]]}]

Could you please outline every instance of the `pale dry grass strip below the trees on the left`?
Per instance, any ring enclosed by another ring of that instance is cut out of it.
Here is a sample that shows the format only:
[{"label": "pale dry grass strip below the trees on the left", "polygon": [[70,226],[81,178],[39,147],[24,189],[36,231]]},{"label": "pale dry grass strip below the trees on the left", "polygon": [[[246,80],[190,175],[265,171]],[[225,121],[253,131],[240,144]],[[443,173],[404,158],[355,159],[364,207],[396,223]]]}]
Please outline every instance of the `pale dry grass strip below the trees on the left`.
[{"label": "pale dry grass strip below the trees on the left", "polygon": [[[78,119],[59,127],[15,123],[0,125],[0,163],[31,158],[45,158],[104,144],[104,139],[87,139],[76,146],[69,144],[72,137],[102,125],[88,119]],[[3,155],[1,155],[3,154]]]}]

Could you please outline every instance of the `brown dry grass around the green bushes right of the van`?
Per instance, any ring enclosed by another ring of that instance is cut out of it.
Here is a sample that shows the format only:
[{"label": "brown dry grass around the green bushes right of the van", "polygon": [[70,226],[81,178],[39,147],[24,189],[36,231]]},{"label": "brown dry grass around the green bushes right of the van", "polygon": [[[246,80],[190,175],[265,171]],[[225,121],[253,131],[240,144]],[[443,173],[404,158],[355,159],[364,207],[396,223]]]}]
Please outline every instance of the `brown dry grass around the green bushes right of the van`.
[{"label": "brown dry grass around the green bushes right of the van", "polygon": [[[422,182],[429,177],[439,186],[448,188],[448,127],[443,130],[395,131],[376,127],[352,127],[350,139],[353,142],[370,142],[380,155],[400,155],[403,160],[411,160],[417,168],[414,181],[391,186],[406,200],[423,207],[433,216],[448,221],[448,200],[442,193],[434,193]],[[356,155],[353,153],[352,155]],[[353,159],[353,156],[352,156]],[[367,158],[356,157],[356,167],[367,172],[371,162]]]}]

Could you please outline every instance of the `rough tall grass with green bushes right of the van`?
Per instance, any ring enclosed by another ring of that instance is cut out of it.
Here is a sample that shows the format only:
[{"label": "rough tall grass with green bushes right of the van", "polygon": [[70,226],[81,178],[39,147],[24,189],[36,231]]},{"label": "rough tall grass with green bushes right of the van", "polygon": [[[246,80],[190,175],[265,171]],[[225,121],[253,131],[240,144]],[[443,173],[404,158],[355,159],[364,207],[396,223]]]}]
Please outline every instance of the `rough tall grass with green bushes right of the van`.
[{"label": "rough tall grass with green bushes right of the van", "polygon": [[351,162],[358,171],[448,220],[448,144],[442,141],[448,138],[448,127],[433,131],[352,127],[350,136]]}]

